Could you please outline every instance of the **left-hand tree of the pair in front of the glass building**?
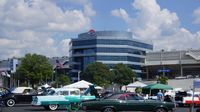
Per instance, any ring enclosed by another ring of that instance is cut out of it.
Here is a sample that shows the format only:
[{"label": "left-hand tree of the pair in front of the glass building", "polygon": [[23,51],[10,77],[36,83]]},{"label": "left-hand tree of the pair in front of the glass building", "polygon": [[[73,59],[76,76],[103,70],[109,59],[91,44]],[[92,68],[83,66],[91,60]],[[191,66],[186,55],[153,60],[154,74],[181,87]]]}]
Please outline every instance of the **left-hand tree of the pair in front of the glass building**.
[{"label": "left-hand tree of the pair in front of the glass building", "polygon": [[101,62],[94,62],[89,64],[82,73],[82,79],[97,84],[99,86],[110,85],[110,78],[111,72],[109,68]]}]

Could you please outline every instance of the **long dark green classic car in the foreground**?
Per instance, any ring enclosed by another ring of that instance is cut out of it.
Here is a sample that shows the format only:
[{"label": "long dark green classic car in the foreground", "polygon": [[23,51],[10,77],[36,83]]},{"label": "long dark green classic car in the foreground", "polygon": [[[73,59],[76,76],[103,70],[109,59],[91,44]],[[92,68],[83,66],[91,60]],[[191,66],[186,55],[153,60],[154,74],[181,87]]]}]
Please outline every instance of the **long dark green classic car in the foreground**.
[{"label": "long dark green classic car in the foreground", "polygon": [[175,109],[173,102],[157,100],[144,100],[135,93],[116,93],[103,99],[86,101],[82,103],[84,111],[155,111],[168,112]]}]

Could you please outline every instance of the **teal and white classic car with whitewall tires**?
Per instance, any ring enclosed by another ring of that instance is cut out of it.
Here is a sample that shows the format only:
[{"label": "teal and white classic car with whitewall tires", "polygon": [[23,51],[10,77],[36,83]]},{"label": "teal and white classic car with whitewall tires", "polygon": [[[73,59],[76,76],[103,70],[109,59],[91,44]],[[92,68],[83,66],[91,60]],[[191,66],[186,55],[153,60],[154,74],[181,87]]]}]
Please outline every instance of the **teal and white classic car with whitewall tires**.
[{"label": "teal and white classic car with whitewall tires", "polygon": [[45,96],[33,96],[32,105],[43,106],[48,110],[56,110],[59,107],[78,109],[81,101],[96,99],[95,96],[81,95],[79,89],[75,88],[58,88],[52,90]]}]

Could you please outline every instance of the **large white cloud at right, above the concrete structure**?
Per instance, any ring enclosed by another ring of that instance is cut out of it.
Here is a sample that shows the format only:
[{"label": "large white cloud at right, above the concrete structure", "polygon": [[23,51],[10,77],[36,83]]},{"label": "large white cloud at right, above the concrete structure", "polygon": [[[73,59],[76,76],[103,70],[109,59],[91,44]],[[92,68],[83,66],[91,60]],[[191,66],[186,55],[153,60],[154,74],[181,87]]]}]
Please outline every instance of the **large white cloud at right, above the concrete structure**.
[{"label": "large white cloud at right, above the concrete structure", "polygon": [[161,9],[156,0],[134,0],[132,6],[137,11],[134,18],[124,9],[111,14],[122,18],[138,39],[152,41],[154,50],[200,48],[199,33],[181,28],[177,14]]}]

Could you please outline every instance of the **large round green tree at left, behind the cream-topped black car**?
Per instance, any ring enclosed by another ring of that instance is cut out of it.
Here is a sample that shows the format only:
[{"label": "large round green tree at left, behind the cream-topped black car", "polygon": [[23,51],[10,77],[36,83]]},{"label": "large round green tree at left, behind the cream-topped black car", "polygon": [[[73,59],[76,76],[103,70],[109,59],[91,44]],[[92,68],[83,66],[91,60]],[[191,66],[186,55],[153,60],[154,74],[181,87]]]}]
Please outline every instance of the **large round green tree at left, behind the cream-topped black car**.
[{"label": "large round green tree at left, behind the cream-topped black car", "polygon": [[22,83],[28,81],[34,87],[34,84],[45,82],[51,78],[53,67],[45,56],[26,54],[17,68],[16,74]]}]

